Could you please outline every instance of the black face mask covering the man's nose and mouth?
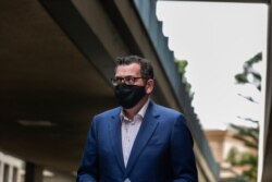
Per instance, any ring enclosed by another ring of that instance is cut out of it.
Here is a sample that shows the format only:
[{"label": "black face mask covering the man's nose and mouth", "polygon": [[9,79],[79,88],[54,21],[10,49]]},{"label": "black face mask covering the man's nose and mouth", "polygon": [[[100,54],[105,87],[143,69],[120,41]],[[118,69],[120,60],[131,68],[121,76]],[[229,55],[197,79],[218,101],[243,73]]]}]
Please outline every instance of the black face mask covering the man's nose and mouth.
[{"label": "black face mask covering the man's nose and mouth", "polygon": [[114,93],[119,104],[131,109],[146,95],[146,89],[145,86],[121,84],[115,86]]}]

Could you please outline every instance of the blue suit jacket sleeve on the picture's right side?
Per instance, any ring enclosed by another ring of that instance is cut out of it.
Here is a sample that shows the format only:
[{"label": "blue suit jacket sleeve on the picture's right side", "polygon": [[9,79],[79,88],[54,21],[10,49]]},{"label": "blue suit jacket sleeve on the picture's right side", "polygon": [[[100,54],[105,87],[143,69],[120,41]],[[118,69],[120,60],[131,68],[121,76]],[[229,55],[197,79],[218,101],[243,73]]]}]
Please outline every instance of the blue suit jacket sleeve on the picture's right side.
[{"label": "blue suit jacket sleeve on the picture's right side", "polygon": [[197,168],[193,150],[193,137],[181,114],[173,126],[171,135],[171,160],[174,182],[197,182]]}]

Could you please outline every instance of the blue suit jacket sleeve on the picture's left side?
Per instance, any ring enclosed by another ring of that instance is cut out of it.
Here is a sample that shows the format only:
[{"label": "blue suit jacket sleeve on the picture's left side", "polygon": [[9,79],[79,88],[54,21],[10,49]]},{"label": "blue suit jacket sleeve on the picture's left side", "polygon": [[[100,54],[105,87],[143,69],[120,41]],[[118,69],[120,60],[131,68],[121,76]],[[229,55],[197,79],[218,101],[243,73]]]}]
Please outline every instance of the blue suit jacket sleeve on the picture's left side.
[{"label": "blue suit jacket sleeve on the picture's left side", "polygon": [[96,119],[92,120],[82,161],[77,170],[76,182],[97,182],[99,177],[97,141],[96,141]]}]

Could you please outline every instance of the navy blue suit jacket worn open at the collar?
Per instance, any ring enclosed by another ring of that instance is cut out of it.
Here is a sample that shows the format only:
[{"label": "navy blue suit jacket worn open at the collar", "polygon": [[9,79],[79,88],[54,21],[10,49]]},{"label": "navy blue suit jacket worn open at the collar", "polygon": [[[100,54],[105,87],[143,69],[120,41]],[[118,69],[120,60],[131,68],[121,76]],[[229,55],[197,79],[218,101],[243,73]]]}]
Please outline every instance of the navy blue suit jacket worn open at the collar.
[{"label": "navy blue suit jacket worn open at the collar", "polygon": [[121,139],[121,107],[96,116],[77,182],[196,182],[193,138],[182,113],[150,101],[127,166]]}]

